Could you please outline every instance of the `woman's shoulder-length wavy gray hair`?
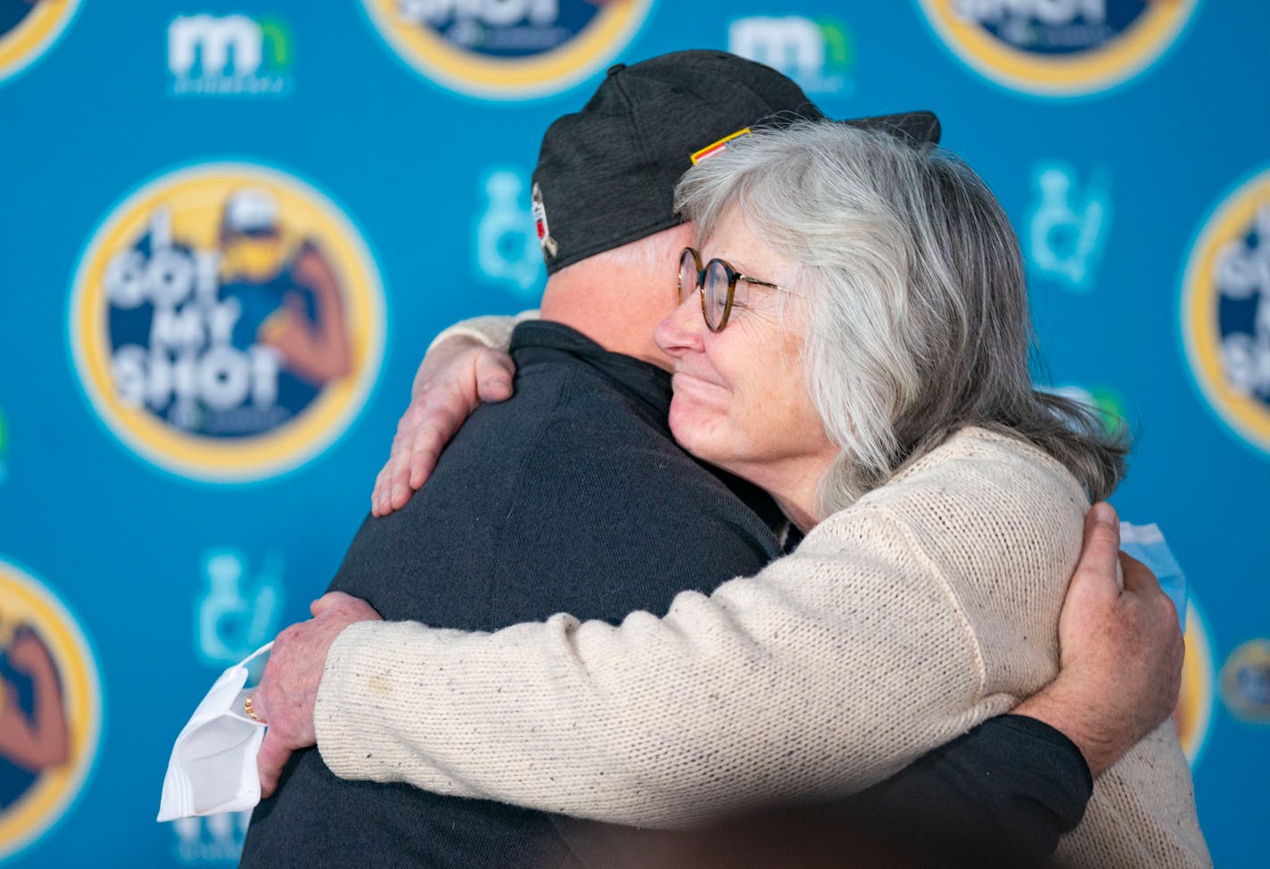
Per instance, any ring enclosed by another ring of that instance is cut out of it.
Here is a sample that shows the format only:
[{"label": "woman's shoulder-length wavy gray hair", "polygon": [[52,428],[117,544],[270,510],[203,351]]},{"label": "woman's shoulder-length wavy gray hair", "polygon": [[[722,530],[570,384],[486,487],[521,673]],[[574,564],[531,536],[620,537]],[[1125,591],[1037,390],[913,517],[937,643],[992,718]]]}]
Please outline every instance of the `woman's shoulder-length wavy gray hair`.
[{"label": "woman's shoulder-length wavy gray hair", "polygon": [[756,130],[690,169],[676,207],[698,238],[738,207],[798,263],[787,304],[805,306],[808,387],[841,448],[822,516],[966,426],[1040,447],[1092,499],[1124,476],[1123,428],[1033,387],[1019,241],[956,155],[824,121]]}]

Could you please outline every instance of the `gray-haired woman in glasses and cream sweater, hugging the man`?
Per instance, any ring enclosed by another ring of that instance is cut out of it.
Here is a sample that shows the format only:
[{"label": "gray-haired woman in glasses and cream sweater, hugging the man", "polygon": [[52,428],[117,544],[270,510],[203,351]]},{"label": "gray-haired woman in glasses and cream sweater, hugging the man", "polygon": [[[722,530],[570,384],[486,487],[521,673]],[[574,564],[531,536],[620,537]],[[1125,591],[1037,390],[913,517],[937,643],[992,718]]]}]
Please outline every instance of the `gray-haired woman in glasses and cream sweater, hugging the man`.
[{"label": "gray-haired woman in glasses and cream sweater, hugging the man", "polygon": [[[698,246],[658,328],[671,427],[805,539],[617,626],[349,626],[316,710],[338,775],[688,826],[864,789],[1057,672],[1083,517],[1125,448],[1033,389],[991,192],[947,152],[819,122],[729,142],[678,206]],[[1209,864],[1170,722],[1100,778],[1058,859]]]}]

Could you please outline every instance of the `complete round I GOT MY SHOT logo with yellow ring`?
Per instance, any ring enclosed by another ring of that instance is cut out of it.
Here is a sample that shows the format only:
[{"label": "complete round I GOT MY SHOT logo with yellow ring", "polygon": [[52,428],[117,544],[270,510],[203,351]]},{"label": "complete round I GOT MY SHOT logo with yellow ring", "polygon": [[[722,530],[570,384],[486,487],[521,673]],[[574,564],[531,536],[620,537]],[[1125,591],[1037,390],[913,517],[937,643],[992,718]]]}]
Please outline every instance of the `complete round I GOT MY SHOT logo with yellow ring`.
[{"label": "complete round I GOT MY SHOT logo with yellow ring", "polygon": [[329,446],[384,352],[378,272],[307,184],[206,164],[146,184],[75,276],[71,346],[107,427],[173,473],[255,480]]}]

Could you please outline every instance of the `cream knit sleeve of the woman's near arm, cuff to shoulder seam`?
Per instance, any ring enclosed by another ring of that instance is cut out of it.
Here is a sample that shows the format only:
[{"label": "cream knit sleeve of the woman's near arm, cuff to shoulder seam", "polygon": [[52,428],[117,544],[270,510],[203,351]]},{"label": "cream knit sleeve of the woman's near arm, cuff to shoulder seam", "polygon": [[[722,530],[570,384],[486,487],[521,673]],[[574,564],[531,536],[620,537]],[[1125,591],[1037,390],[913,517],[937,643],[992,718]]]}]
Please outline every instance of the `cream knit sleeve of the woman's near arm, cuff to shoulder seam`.
[{"label": "cream knit sleeve of the woman's near arm, cuff to shoulder seam", "polygon": [[857,507],[663,617],[352,625],[316,704],[343,778],[652,826],[864,789],[1005,711],[912,530]]}]

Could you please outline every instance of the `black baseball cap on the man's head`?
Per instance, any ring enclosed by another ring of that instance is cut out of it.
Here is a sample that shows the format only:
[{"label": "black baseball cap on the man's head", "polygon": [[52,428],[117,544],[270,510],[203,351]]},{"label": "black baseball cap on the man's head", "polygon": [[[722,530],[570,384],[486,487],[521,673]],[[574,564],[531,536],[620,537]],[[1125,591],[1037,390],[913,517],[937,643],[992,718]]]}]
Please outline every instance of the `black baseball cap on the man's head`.
[{"label": "black baseball cap on the man's head", "polygon": [[[724,51],[676,51],[608,70],[580,112],[558,118],[533,170],[547,273],[681,222],[674,185],[748,127],[827,119],[792,80]],[[843,121],[937,144],[931,112]]]}]

